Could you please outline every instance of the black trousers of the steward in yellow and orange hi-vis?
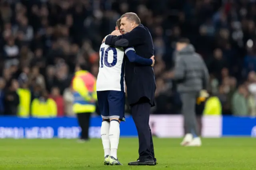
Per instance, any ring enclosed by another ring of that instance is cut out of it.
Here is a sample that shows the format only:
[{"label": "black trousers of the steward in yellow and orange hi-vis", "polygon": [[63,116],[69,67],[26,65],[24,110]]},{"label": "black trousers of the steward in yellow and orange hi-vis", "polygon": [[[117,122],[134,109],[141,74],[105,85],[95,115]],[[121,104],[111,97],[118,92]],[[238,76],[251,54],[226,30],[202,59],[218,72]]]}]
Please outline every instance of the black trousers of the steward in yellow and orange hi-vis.
[{"label": "black trousers of the steward in yellow and orange hi-vis", "polygon": [[89,127],[90,127],[90,117],[91,113],[77,113],[78,124],[81,128],[80,139],[89,139]]}]

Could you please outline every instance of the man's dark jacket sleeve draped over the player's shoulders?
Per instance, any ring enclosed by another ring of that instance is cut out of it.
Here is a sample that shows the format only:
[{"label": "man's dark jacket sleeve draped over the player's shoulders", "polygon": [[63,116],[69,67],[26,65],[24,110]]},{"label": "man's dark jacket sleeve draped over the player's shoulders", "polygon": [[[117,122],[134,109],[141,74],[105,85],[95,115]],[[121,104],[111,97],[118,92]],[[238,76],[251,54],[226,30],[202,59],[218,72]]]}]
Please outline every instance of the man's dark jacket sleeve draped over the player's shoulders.
[{"label": "man's dark jacket sleeve draped over the player's shoulders", "polygon": [[140,26],[121,36],[107,36],[105,44],[118,47],[132,47],[144,42],[144,28]]}]

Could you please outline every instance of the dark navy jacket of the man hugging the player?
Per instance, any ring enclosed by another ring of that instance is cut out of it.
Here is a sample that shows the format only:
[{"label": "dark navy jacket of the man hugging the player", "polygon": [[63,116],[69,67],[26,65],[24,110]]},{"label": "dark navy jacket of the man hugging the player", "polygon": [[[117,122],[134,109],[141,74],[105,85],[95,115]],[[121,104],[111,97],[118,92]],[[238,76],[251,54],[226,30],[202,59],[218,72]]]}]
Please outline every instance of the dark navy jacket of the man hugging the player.
[{"label": "dark navy jacket of the man hugging the player", "polygon": [[[144,58],[150,58],[154,55],[151,34],[148,28],[142,24],[121,36],[108,36],[105,43],[118,47],[134,47],[136,54]],[[146,97],[150,104],[154,106],[156,82],[154,70],[151,66],[131,63],[126,59],[124,78],[130,105],[137,103],[142,97]]]}]

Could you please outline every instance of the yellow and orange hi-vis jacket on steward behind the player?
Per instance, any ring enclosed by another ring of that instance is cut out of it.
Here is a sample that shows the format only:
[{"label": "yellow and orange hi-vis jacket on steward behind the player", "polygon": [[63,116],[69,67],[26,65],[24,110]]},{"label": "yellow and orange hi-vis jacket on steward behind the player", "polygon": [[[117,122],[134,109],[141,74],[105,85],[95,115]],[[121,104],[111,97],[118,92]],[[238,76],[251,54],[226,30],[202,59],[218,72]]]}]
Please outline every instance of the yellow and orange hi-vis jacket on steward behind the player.
[{"label": "yellow and orange hi-vis jacket on steward behind the player", "polygon": [[[92,113],[96,111],[96,78],[88,71],[77,71],[72,81],[74,113]],[[94,100],[94,101],[93,101]]]}]

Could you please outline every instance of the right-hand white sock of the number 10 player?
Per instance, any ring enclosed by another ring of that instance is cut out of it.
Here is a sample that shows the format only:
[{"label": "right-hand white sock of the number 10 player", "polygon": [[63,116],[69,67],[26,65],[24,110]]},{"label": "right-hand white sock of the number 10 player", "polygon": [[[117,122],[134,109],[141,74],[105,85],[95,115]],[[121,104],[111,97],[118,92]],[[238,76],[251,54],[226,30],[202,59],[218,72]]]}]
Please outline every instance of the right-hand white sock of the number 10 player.
[{"label": "right-hand white sock of the number 10 player", "polygon": [[120,124],[118,121],[110,121],[110,128],[109,128],[109,140],[111,151],[110,155],[117,159],[117,148],[119,144],[119,137],[120,137]]}]

